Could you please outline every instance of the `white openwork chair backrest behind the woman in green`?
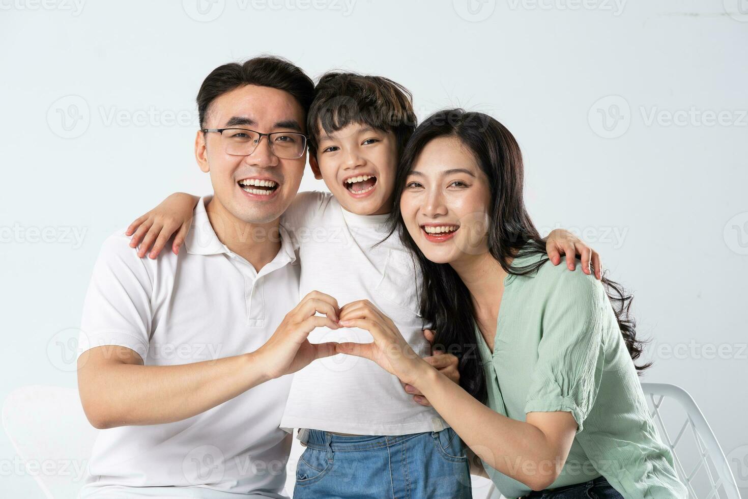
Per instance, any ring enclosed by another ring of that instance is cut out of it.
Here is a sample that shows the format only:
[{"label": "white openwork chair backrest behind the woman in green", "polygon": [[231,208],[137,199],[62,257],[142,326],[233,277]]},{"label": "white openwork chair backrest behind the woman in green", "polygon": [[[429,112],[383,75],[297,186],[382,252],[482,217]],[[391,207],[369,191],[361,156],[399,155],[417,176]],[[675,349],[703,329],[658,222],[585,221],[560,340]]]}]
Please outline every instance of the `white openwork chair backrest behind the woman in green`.
[{"label": "white openwork chair backrest behind the woman in green", "polygon": [[725,453],[690,394],[664,383],[642,383],[642,390],[688,499],[741,499]]}]

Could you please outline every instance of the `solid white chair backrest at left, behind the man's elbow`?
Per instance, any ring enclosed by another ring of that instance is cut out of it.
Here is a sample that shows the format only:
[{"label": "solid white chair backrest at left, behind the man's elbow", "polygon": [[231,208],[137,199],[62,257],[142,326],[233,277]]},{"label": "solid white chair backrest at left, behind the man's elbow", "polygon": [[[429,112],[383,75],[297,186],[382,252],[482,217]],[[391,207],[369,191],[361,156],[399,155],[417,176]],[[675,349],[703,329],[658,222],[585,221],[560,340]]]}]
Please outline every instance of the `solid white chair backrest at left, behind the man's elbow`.
[{"label": "solid white chair backrest at left, behind the man's elbow", "polygon": [[76,388],[31,385],[5,398],[2,425],[48,499],[74,499],[83,486],[96,429]]}]

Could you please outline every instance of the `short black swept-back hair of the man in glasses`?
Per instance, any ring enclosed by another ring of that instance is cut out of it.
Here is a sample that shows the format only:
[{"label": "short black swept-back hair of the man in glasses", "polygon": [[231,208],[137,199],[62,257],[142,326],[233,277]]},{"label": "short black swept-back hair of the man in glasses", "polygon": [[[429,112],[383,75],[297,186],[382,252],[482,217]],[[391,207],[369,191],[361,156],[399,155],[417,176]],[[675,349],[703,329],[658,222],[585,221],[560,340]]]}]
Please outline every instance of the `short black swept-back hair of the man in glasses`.
[{"label": "short black swept-back hair of the man in glasses", "polygon": [[218,66],[203,80],[197,92],[197,114],[200,128],[205,127],[205,119],[210,105],[217,97],[245,85],[278,88],[291,94],[304,109],[304,115],[314,97],[314,82],[286,59],[275,56],[251,58],[242,64],[231,62]]}]

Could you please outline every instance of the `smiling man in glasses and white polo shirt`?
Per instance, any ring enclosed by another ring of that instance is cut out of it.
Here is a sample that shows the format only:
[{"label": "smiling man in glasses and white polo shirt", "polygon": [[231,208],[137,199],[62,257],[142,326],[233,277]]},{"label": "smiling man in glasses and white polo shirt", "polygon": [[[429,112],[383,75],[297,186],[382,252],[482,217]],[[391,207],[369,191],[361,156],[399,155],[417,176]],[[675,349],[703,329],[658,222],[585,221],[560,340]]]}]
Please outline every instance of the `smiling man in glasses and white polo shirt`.
[{"label": "smiling man in glasses and white polo shirt", "polygon": [[105,241],[78,358],[85,414],[103,430],[82,498],[283,497],[284,375],[333,355],[307,335],[338,327],[331,296],[299,302],[279,225],[304,173],[312,97],[278,58],[215,69],[194,144],[214,195],[197,203],[186,251],[141,259],[124,231]]}]

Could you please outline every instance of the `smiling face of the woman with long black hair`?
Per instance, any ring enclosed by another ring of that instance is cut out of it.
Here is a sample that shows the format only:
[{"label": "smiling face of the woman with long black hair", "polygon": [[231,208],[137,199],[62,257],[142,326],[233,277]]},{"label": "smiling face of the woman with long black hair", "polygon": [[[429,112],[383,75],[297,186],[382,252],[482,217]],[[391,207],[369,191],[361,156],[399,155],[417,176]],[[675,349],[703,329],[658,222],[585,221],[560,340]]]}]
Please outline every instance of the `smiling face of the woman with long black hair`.
[{"label": "smiling face of the woman with long black hair", "polygon": [[405,180],[400,212],[414,242],[435,263],[488,251],[488,179],[454,136],[426,144]]}]

